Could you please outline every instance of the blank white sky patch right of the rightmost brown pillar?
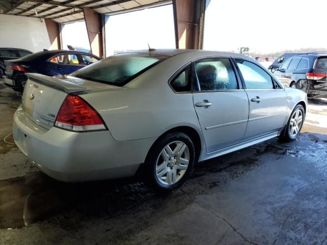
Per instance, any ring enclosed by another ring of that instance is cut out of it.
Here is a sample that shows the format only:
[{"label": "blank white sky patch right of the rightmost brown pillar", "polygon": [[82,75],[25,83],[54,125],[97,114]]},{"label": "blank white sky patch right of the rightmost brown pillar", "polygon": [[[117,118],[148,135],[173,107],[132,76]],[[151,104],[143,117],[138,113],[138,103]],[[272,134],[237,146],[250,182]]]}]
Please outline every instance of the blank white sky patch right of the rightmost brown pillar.
[{"label": "blank white sky patch right of the rightmost brown pillar", "polygon": [[205,13],[204,49],[277,52],[327,48],[325,0],[211,0]]}]

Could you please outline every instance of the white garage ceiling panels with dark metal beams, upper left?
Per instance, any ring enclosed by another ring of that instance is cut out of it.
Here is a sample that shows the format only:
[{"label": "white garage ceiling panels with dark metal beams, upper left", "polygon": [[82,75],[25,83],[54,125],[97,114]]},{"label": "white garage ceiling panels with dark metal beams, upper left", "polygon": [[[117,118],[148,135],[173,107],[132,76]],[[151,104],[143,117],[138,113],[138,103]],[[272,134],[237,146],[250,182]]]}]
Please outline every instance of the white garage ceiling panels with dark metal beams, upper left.
[{"label": "white garage ceiling panels with dark metal beams, upper left", "polygon": [[52,19],[58,23],[84,19],[83,9],[94,9],[100,14],[114,14],[133,9],[167,3],[171,0],[56,0],[2,1],[4,14]]}]

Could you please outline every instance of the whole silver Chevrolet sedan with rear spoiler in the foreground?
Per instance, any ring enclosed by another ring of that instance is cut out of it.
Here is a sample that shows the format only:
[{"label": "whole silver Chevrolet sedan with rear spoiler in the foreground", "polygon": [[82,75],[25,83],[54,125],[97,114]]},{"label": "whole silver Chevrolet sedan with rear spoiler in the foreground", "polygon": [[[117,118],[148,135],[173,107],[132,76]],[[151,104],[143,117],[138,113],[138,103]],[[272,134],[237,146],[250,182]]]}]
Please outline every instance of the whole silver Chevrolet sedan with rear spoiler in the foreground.
[{"label": "whole silver Chevrolet sedan with rear spoiler in the foreground", "polygon": [[233,53],[135,51],[70,76],[27,75],[15,142],[66,182],[141,171],[149,185],[174,189],[197,161],[295,139],[308,105],[306,93]]}]

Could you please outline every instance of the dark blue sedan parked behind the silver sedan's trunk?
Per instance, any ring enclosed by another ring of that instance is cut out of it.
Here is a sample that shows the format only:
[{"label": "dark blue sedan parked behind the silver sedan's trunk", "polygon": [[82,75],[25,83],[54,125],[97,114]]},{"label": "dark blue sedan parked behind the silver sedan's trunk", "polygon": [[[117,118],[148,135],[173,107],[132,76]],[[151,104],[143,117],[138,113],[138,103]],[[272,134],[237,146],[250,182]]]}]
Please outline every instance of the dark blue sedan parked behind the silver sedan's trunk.
[{"label": "dark blue sedan parked behind the silver sedan's trunk", "polygon": [[60,76],[101,60],[100,57],[79,51],[42,51],[20,59],[5,61],[4,84],[22,92],[27,80],[25,73]]}]

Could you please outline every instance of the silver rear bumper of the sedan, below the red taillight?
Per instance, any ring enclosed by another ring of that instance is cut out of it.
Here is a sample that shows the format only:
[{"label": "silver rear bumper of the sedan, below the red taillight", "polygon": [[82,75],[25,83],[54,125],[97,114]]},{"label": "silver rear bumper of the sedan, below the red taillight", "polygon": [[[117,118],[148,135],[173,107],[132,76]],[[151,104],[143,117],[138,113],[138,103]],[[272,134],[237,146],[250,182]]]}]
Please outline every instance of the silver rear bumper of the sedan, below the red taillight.
[{"label": "silver rear bumper of the sedan, below the red taillight", "polygon": [[18,148],[43,173],[64,182],[133,176],[155,141],[118,142],[109,131],[47,130],[30,120],[21,107],[14,114],[13,136]]}]

